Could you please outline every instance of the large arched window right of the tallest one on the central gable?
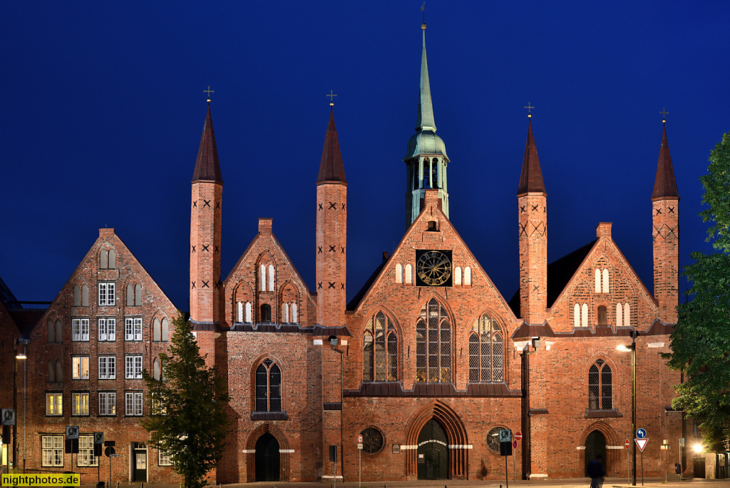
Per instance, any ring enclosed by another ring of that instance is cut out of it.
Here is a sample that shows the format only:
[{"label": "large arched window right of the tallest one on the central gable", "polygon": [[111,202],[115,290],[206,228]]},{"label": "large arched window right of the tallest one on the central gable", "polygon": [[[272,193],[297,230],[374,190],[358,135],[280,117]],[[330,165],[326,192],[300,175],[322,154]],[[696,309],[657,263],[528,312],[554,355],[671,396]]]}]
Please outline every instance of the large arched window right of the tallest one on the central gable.
[{"label": "large arched window right of the tallest one on the central gable", "polygon": [[502,328],[487,313],[469,333],[469,381],[504,381]]}]

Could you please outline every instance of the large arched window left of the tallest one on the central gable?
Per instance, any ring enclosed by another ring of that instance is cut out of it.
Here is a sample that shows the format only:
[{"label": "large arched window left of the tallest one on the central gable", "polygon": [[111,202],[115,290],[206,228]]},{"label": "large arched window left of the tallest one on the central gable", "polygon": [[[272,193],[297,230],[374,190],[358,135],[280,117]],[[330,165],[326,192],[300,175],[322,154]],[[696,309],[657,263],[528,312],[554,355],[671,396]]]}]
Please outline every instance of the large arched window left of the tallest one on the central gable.
[{"label": "large arched window left of the tallest one on the central gable", "polygon": [[398,381],[398,336],[383,312],[376,313],[365,326],[363,381]]}]

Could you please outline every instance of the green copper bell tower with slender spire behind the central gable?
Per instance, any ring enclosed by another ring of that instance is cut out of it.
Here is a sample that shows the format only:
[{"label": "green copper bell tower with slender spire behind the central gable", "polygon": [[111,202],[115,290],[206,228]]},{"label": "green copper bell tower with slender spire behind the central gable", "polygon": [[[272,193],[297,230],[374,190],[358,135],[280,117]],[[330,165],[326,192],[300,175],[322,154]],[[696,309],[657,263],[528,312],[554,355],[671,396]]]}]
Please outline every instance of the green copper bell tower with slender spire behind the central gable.
[{"label": "green copper bell tower with slender spire behind the central gable", "polygon": [[438,205],[449,216],[449,193],[446,168],[449,158],[446,145],[436,135],[434,106],[431,103],[429,64],[426,61],[426,23],[421,24],[423,50],[420,57],[420,96],[415,134],[408,141],[403,161],[406,164],[406,226],[415,221],[423,209],[426,190],[438,190]]}]

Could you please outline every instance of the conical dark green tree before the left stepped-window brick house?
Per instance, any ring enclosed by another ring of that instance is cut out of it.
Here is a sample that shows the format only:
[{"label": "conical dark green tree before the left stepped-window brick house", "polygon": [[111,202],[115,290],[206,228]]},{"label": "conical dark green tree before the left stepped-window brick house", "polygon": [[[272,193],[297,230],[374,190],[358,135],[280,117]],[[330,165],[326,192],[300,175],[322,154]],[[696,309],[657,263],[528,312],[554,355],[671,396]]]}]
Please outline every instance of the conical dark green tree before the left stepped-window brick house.
[{"label": "conical dark green tree before the left stepped-window brick house", "polygon": [[185,488],[201,488],[226,446],[228,392],[215,367],[205,366],[190,322],[178,313],[172,325],[170,354],[160,354],[161,379],[142,373],[151,413],[142,427],[158,449],[170,454]]}]

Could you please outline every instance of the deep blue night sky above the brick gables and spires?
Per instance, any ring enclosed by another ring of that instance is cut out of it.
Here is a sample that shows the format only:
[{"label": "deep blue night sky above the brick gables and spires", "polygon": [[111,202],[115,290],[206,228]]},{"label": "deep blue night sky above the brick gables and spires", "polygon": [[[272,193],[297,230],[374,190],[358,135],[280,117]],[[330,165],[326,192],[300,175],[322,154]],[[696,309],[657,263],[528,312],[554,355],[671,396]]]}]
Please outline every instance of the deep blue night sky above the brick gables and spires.
[{"label": "deep blue night sky above the brick gables and spires", "polygon": [[[348,297],[405,230],[420,1],[5,2],[0,276],[53,300],[115,227],[188,309],[190,180],[210,85],[223,172],[223,276],[258,217],[310,286],[315,179],[335,120],[348,186]],[[426,44],[450,217],[504,297],[518,286],[527,119],[548,190],[550,261],[599,221],[652,290],[662,107],[680,264],[707,250],[699,176],[730,129],[726,1],[429,0]]]}]

